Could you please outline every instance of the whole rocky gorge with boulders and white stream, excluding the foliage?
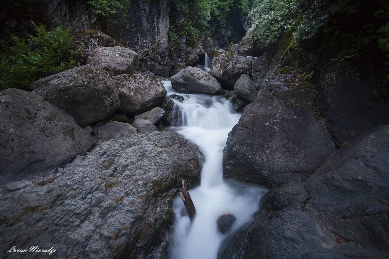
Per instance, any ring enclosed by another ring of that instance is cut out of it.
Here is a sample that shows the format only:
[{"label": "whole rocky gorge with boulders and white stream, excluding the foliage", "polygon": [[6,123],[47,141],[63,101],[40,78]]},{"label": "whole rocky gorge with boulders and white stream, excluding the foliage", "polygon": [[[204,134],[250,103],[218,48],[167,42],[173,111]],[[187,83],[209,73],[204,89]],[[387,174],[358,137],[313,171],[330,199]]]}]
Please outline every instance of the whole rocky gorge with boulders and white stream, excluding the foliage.
[{"label": "whole rocky gorge with boulders and white stream, excluding the foliage", "polygon": [[177,42],[168,1],[48,3],[80,54],[0,92],[2,258],[389,257],[384,72],[287,33]]}]

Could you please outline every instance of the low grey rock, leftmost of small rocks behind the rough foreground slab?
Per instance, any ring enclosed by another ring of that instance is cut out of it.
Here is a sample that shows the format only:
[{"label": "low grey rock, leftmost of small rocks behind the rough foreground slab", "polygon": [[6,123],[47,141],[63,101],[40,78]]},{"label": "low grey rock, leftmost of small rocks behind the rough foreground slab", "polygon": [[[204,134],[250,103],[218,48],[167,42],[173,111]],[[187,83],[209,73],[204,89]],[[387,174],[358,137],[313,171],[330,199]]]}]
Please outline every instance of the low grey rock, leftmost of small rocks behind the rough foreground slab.
[{"label": "low grey rock, leftmost of small rocks behind the rough foreground slab", "polygon": [[133,134],[137,134],[137,130],[130,124],[109,120],[98,128],[97,137],[101,139],[117,139],[119,137],[130,137]]}]

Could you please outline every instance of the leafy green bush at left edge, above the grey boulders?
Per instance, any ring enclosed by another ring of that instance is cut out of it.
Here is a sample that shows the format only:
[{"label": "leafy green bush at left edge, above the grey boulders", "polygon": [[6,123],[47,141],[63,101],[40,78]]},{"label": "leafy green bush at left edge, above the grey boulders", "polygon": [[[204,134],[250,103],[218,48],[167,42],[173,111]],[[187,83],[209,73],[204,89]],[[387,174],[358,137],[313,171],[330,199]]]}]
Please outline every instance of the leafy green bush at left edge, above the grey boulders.
[{"label": "leafy green bush at left edge, above the grey boulders", "polygon": [[77,66],[79,50],[72,45],[71,28],[47,31],[35,25],[35,31],[36,36],[11,36],[10,42],[1,43],[0,90],[30,90],[33,81]]}]

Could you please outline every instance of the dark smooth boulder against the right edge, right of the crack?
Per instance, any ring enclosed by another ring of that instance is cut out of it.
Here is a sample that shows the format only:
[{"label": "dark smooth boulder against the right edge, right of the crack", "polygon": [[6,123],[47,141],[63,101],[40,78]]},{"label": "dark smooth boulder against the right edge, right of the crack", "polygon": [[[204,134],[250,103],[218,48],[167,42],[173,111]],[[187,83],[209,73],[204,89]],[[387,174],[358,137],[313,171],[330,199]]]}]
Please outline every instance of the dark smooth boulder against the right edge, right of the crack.
[{"label": "dark smooth boulder against the right edge, right of the crack", "polygon": [[389,252],[389,124],[345,144],[307,181],[308,215],[366,247]]}]

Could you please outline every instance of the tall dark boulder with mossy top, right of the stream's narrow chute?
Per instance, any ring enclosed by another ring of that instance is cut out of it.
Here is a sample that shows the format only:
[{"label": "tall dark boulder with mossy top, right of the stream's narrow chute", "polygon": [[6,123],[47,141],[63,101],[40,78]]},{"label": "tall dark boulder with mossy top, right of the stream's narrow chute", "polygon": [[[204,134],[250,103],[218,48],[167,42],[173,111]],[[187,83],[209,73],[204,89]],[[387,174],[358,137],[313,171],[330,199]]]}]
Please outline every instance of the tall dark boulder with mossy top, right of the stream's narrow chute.
[{"label": "tall dark boulder with mossy top, right of the stream's narrow chute", "polygon": [[297,72],[269,79],[228,134],[224,176],[274,187],[314,173],[336,150],[312,112],[314,97]]}]

